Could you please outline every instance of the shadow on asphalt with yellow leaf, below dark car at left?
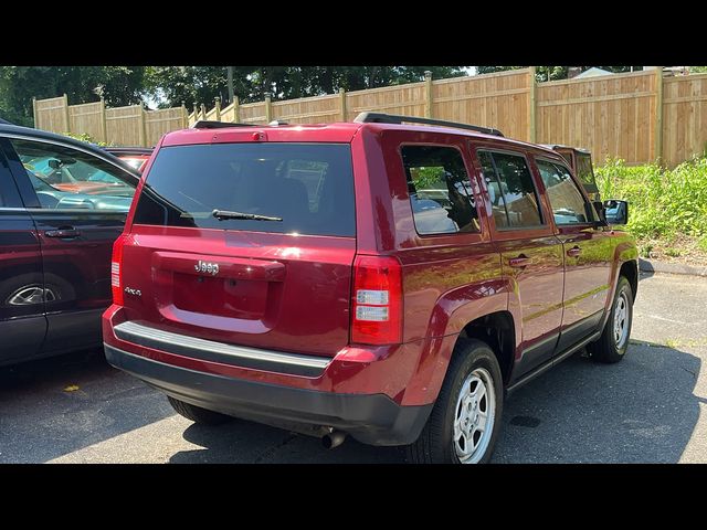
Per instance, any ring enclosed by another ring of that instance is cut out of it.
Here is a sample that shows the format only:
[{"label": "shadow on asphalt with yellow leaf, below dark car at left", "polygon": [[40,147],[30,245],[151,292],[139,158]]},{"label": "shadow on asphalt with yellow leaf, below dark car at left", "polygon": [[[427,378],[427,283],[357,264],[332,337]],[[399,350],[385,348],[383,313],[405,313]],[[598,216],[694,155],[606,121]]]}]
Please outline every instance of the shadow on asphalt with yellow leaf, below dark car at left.
[{"label": "shadow on asphalt with yellow leaf, below dark car at left", "polygon": [[42,463],[171,416],[103,350],[0,368],[0,463]]}]

